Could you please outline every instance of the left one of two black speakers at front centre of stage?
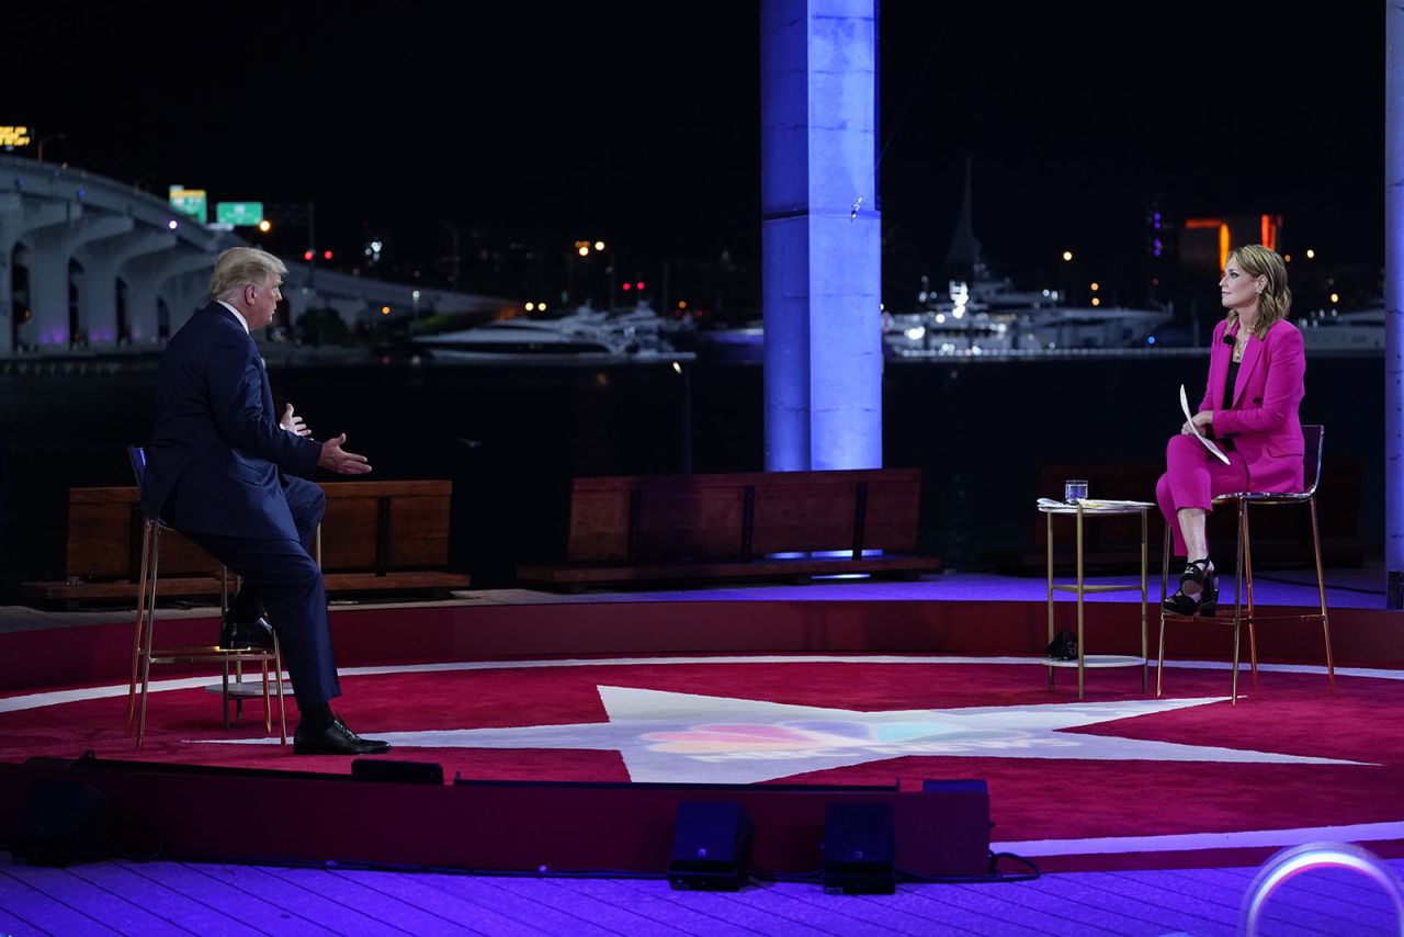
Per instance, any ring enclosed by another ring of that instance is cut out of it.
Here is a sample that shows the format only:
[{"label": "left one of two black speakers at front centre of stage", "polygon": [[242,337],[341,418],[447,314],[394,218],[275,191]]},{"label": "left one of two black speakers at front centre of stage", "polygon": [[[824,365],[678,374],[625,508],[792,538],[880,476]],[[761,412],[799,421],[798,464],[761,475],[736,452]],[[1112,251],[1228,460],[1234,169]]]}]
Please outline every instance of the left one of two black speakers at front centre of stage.
[{"label": "left one of two black speakers at front centre of stage", "polygon": [[675,889],[734,892],[751,878],[755,826],[740,804],[681,801],[673,826],[668,884]]}]

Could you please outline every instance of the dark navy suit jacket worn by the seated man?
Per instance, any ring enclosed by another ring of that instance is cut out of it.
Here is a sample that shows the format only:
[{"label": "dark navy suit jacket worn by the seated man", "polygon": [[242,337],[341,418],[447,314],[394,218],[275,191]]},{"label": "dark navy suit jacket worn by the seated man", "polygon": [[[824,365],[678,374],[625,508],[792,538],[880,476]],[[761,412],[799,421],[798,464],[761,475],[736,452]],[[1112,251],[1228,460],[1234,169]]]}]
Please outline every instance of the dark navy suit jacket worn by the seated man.
[{"label": "dark navy suit jacket worn by the seated man", "polygon": [[218,302],[166,346],[142,509],[178,531],[298,539],[282,472],[312,478],[322,444],[278,426],[263,355]]}]

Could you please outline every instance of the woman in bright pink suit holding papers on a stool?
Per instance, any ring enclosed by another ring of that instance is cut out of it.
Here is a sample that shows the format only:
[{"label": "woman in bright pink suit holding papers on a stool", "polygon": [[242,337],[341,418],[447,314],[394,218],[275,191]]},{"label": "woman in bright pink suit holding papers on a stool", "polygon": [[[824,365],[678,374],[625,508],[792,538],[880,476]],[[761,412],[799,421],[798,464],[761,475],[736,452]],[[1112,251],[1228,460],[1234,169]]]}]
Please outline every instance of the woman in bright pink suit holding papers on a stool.
[{"label": "woman in bright pink suit holding papers on a stool", "polygon": [[1189,423],[1165,448],[1155,500],[1188,561],[1167,611],[1213,615],[1219,582],[1209,559],[1205,518],[1216,494],[1300,492],[1306,355],[1302,333],[1287,322],[1292,291],[1275,250],[1247,244],[1228,254],[1219,295],[1228,315],[1214,327],[1209,384],[1192,423],[1228,457],[1220,462],[1195,438]]}]

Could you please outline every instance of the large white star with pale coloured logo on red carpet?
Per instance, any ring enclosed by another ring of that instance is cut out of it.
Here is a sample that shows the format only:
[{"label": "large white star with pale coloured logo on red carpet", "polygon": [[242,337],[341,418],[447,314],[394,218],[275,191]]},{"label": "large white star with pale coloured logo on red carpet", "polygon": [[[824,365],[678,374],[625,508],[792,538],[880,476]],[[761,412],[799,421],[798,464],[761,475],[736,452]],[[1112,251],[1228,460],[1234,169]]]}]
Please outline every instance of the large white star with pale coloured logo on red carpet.
[{"label": "large white star with pale coloured logo on red carpet", "polygon": [[755,784],[903,756],[1362,764],[1063,730],[1224,702],[1227,697],[861,712],[661,690],[597,688],[607,722],[368,735],[411,749],[616,750],[630,780],[640,782]]}]

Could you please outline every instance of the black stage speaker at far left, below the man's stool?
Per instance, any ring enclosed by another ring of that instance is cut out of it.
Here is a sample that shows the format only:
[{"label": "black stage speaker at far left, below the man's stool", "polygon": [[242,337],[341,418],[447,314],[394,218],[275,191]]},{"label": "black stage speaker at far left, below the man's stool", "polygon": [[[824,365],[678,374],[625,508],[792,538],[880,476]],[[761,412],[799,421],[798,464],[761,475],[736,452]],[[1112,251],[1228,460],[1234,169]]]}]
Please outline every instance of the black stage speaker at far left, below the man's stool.
[{"label": "black stage speaker at far left, below the man's stool", "polygon": [[10,851],[29,865],[94,863],[114,854],[112,827],[105,794],[73,778],[45,780],[24,802]]}]

